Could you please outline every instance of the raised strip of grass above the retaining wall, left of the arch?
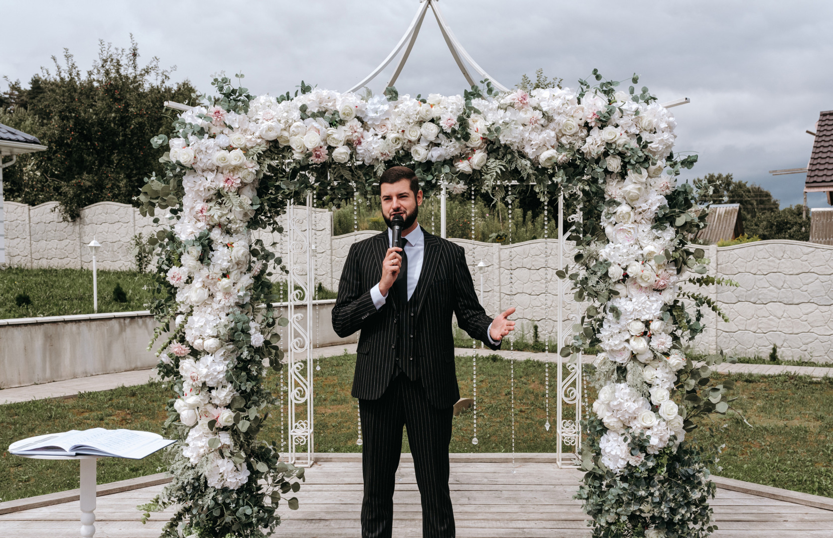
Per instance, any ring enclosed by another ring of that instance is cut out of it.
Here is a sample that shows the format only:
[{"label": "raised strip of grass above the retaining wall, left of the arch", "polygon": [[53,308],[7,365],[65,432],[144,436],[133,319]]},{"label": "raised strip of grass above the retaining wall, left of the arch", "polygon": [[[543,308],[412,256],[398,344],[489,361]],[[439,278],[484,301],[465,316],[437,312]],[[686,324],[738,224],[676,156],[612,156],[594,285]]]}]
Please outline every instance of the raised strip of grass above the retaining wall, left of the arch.
[{"label": "raised strip of grass above the retaining wall, left of the arch", "polygon": [[[153,275],[136,271],[97,271],[98,311],[147,310]],[[113,299],[121,284],[127,302]],[[27,295],[31,304],[17,306],[15,298]],[[12,317],[92,314],[92,271],[83,269],[21,269],[0,271],[0,319]]]}]

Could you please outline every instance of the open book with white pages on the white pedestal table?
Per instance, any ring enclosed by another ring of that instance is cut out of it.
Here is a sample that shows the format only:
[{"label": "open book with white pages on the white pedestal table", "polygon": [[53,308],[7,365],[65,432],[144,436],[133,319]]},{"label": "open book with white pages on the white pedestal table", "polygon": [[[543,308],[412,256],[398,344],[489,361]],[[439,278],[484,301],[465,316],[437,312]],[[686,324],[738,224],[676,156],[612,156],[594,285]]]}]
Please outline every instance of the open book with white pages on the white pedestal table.
[{"label": "open book with white pages on the white pedestal table", "polygon": [[175,442],[150,431],[92,428],[29,437],[12,443],[8,451],[18,456],[110,456],[141,460]]}]

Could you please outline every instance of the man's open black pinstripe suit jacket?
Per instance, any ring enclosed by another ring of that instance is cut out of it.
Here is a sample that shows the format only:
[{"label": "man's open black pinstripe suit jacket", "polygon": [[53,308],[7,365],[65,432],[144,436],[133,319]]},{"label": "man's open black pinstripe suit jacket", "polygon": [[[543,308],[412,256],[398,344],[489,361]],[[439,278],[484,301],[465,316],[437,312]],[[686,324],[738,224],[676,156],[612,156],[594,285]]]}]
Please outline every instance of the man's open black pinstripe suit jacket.
[{"label": "man's open black pinstripe suit jacket", "polygon": [[[453,406],[460,399],[454,365],[451,313],[457,324],[491,349],[487,331],[492,318],[477,300],[463,248],[426,232],[422,271],[411,301],[416,301],[416,356],[420,378],[433,406]],[[370,290],[382,278],[388,247],[387,230],[355,243],[344,262],[338,298],[332,309],[332,328],[346,337],[361,330],[352,396],[377,400],[393,375],[396,350],[397,305],[388,301],[378,311]],[[392,296],[389,296],[392,297]]]}]

